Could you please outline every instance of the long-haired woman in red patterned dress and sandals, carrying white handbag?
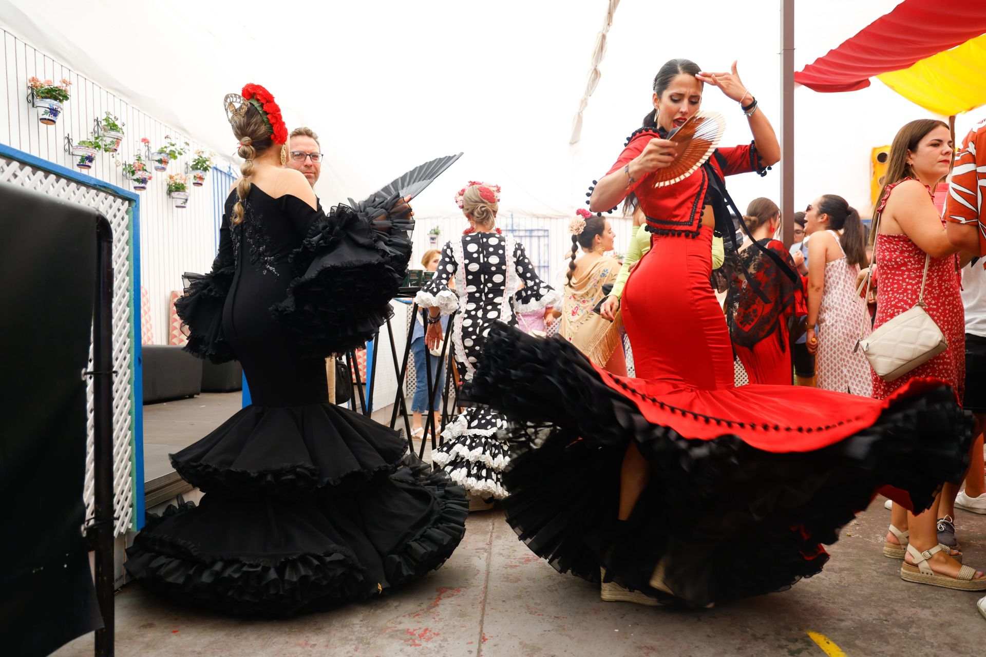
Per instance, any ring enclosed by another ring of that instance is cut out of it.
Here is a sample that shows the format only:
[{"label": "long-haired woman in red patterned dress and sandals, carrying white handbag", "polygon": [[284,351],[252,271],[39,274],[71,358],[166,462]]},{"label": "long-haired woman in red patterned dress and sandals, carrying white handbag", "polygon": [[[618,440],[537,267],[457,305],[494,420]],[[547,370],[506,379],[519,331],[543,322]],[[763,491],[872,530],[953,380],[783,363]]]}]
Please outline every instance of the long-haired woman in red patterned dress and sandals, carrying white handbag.
[{"label": "long-haired woman in red patterned dress and sandals, carrying white handbag", "polygon": [[[874,213],[874,223],[880,219],[879,234],[875,232],[873,237],[878,282],[874,328],[918,302],[927,260],[923,300],[926,310],[945,334],[949,349],[892,381],[884,381],[873,372],[876,399],[886,399],[911,381],[928,378],[948,383],[956,399],[962,399],[965,318],[955,255],[958,249],[951,245],[931,195],[932,188],[949,173],[951,150],[948,124],[934,119],[906,124],[890,146],[885,178],[889,184]],[[942,495],[951,495],[953,499],[957,492],[957,487],[947,484]],[[907,581],[986,590],[986,577],[981,571],[972,574],[971,568],[951,558],[948,549],[956,554],[954,548],[957,548],[954,526],[951,516],[939,519],[938,511],[939,498],[931,508],[917,515],[894,504],[883,554],[904,558],[900,576]],[[939,547],[940,528],[943,547]]]}]

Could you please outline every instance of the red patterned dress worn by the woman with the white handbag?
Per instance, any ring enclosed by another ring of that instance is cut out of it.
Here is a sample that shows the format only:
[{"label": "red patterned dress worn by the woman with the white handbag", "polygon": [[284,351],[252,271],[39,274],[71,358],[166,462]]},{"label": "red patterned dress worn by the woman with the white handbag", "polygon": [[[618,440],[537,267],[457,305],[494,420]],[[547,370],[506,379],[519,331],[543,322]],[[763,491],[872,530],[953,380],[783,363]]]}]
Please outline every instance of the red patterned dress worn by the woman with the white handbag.
[{"label": "red patterned dress worn by the woman with the white handbag", "polygon": [[[878,212],[883,210],[896,184],[899,183],[887,185]],[[879,233],[875,248],[878,272],[876,329],[918,302],[925,252],[905,234]],[[889,397],[911,379],[934,378],[951,385],[961,404],[965,387],[965,313],[956,265],[954,254],[931,258],[924,293],[926,310],[945,334],[949,349],[892,381],[884,381],[873,372],[873,396],[876,399]]]}]

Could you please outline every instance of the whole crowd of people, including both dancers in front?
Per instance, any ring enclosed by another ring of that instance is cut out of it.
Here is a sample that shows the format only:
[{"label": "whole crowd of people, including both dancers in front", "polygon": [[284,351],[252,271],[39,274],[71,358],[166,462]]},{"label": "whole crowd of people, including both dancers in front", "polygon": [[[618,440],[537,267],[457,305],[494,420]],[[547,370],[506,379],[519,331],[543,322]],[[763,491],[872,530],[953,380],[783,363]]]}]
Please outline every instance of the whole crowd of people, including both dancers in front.
[{"label": "whole crowd of people, including both dancers in front", "polygon": [[[712,88],[752,141],[656,184]],[[986,513],[983,124],[953,170],[948,125],[903,126],[869,230],[826,193],[794,218],[788,248],[761,197],[738,244],[727,178],[765,175],[776,135],[735,65],[670,60],[572,219],[556,285],[497,227],[500,187],[468,182],[455,194],[467,228],[423,255],[435,274],[414,299],[414,437],[423,416],[441,420],[427,414],[443,341],[460,384],[432,469],[395,431],[329,404],[322,362],[387,321],[410,260],[409,199],[326,213],[317,135],[289,135],[257,86],[227,110],[243,175],[213,270],[176,309],[190,352],[243,363],[253,403],[173,455],[206,494],[149,519],[126,563],[142,584],[234,613],[331,607],[437,567],[468,510],[499,499],[531,551],[599,582],[602,600],[704,608],[819,572],[823,546],[883,493],[883,555],[902,579],[986,591],[954,522],[956,507]],[[943,216],[930,192],[950,172]],[[600,213],[620,205],[633,228],[617,259]],[[860,345],[914,307],[947,348],[880,376]]]}]

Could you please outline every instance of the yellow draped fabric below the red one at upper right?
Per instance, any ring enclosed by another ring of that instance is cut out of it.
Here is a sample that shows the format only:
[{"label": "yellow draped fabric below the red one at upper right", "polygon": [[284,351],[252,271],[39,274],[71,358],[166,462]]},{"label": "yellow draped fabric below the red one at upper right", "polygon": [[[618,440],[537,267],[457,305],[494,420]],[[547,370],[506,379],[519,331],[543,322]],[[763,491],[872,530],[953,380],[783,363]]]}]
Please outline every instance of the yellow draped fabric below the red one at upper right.
[{"label": "yellow draped fabric below the red one at upper right", "polygon": [[986,104],[986,34],[922,59],[910,68],[877,76],[905,99],[951,116]]}]

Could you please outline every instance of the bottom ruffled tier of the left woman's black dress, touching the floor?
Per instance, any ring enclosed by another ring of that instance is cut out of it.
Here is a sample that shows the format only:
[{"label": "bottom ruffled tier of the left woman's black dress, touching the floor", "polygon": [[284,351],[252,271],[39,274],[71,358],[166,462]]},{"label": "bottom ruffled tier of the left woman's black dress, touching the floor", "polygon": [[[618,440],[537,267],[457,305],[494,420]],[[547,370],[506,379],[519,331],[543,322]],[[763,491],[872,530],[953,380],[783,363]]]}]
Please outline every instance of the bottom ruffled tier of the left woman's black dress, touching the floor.
[{"label": "bottom ruffled tier of the left woman's black dress, touching the floor", "polygon": [[[465,532],[468,502],[418,464],[318,502],[206,494],[148,514],[127,571],[183,605],[283,617],[386,593],[440,566]],[[180,538],[178,538],[180,537]]]}]

